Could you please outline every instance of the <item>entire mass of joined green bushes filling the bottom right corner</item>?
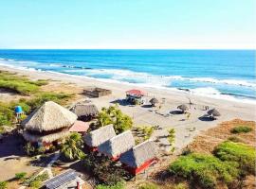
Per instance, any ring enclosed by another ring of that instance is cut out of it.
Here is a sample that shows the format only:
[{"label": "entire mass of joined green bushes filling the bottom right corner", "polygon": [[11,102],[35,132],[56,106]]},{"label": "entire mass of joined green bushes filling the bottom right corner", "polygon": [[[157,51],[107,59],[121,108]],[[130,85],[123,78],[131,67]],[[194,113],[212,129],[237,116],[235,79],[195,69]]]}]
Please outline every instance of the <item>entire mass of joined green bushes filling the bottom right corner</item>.
[{"label": "entire mass of joined green bushes filling the bottom right corner", "polygon": [[169,167],[175,177],[189,180],[201,188],[218,184],[243,186],[248,175],[254,175],[256,150],[241,143],[225,141],[212,154],[186,153]]}]

